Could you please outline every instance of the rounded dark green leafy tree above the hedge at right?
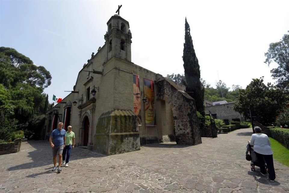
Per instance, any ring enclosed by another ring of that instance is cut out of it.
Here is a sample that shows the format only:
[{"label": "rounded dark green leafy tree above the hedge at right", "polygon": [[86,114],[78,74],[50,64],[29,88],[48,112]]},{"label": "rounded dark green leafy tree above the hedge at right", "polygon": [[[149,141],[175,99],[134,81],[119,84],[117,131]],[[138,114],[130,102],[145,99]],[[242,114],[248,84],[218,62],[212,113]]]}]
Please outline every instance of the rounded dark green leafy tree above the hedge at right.
[{"label": "rounded dark green leafy tree above the hedge at right", "polygon": [[239,89],[239,98],[234,105],[234,110],[243,113],[246,118],[256,116],[264,125],[275,121],[278,110],[284,108],[288,101],[288,95],[283,89],[273,86],[271,83],[265,85],[263,78],[256,78],[246,87]]}]

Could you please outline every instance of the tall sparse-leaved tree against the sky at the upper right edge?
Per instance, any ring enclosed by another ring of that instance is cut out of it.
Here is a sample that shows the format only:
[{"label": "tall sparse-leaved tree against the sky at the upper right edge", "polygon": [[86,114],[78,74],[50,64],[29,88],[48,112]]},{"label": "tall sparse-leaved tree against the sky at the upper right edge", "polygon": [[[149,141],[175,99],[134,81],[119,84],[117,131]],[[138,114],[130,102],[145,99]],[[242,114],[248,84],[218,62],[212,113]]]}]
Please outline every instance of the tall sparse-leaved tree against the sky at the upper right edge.
[{"label": "tall sparse-leaved tree against the sky at the upper right edge", "polygon": [[282,40],[270,43],[268,52],[265,53],[268,65],[272,61],[278,64],[277,68],[271,70],[273,79],[277,80],[279,88],[289,91],[289,31],[284,34]]}]

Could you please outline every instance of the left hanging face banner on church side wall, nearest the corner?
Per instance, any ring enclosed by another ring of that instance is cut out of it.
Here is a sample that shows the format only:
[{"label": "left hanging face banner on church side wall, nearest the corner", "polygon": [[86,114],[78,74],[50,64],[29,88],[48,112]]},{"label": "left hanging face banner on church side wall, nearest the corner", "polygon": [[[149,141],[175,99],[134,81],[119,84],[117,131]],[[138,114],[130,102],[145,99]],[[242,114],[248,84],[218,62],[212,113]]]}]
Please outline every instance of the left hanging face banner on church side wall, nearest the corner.
[{"label": "left hanging face banner on church side wall, nearest the corner", "polygon": [[133,75],[133,112],[138,117],[138,125],[141,125],[141,92],[137,75]]}]

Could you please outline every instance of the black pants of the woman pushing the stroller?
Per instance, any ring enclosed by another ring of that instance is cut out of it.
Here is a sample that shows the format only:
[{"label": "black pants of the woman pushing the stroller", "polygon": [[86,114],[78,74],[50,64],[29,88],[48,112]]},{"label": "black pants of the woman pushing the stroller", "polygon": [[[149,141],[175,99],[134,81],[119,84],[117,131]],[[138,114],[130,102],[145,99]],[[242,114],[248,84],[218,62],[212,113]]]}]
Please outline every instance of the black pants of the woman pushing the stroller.
[{"label": "black pants of the woman pushing the stroller", "polygon": [[[269,178],[270,180],[275,180],[275,169],[273,163],[273,155],[263,155],[260,153],[255,152],[258,158],[258,162],[260,164],[260,172],[266,174],[265,163],[268,168]],[[265,163],[264,163],[265,160]]]}]

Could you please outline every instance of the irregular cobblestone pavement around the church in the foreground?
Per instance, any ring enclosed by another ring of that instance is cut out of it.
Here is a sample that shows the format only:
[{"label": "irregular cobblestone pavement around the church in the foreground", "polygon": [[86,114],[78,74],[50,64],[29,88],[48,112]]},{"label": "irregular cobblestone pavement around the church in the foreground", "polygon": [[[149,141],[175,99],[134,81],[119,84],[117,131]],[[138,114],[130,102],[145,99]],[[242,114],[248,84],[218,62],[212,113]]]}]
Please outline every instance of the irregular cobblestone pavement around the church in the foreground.
[{"label": "irregular cobblestone pavement around the church in the foreground", "polygon": [[0,156],[0,192],[289,192],[289,168],[274,162],[276,181],[251,172],[245,160],[252,129],[218,138],[202,138],[196,146],[173,143],[142,146],[140,151],[102,156],[72,150],[69,167],[51,172],[47,141],[23,142],[19,153]]}]

